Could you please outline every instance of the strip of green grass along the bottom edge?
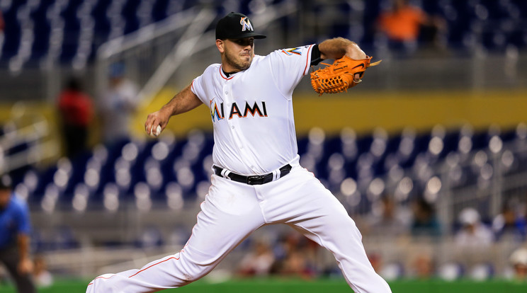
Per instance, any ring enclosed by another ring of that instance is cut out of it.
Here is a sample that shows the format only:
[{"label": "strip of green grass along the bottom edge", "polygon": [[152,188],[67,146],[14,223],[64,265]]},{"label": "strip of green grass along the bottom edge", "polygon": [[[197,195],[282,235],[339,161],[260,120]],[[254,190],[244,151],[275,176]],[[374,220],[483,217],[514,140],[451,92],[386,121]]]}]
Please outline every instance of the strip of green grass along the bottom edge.
[{"label": "strip of green grass along the bottom edge", "polygon": [[[87,281],[61,280],[49,288],[39,289],[40,293],[74,293],[85,292]],[[399,280],[390,282],[393,293],[524,293],[527,292],[527,282],[509,282],[492,280],[475,282],[459,280],[445,282],[441,280]],[[231,280],[211,284],[198,281],[179,289],[169,289],[163,292],[178,293],[350,293],[351,289],[343,280]],[[16,293],[13,287],[0,287],[0,293]],[[132,293],[132,292],[130,292]]]}]

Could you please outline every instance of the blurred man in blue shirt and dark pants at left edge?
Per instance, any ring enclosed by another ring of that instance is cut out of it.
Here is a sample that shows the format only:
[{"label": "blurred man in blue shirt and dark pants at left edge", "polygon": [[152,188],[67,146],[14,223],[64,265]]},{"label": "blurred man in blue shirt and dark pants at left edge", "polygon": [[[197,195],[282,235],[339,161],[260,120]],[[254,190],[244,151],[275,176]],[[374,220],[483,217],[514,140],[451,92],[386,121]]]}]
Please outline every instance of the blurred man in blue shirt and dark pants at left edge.
[{"label": "blurred man in blue shirt and dark pants at left edge", "polygon": [[20,293],[36,292],[29,257],[29,211],[11,190],[8,176],[0,177],[0,262],[4,263]]}]

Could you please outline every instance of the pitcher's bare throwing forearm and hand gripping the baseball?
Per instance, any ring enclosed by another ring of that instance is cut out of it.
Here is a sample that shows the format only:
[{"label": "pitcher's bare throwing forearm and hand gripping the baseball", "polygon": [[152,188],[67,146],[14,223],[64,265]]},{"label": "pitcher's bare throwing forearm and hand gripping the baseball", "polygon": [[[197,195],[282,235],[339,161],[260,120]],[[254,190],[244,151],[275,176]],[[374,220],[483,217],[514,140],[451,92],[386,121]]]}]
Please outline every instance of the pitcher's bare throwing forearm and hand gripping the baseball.
[{"label": "pitcher's bare throwing forearm and hand gripping the baseball", "polygon": [[157,125],[161,126],[161,129],[164,130],[171,116],[186,113],[201,104],[201,100],[191,91],[191,86],[189,85],[183,88],[183,91],[177,93],[161,109],[148,115],[147,121],[145,122],[145,131],[147,134],[151,134],[152,127],[157,127]]}]

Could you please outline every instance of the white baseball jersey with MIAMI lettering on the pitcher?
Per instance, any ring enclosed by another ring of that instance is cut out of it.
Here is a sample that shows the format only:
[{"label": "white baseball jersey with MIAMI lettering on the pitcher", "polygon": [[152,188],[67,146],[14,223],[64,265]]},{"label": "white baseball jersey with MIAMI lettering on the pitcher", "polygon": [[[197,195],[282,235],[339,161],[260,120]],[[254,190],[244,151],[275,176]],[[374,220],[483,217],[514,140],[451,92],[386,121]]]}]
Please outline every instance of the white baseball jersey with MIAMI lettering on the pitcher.
[{"label": "white baseball jersey with MIAMI lettering on the pitcher", "polygon": [[249,69],[225,76],[212,64],[191,90],[210,108],[215,165],[270,173],[297,159],[293,89],[310,69],[313,45],[255,55]]}]

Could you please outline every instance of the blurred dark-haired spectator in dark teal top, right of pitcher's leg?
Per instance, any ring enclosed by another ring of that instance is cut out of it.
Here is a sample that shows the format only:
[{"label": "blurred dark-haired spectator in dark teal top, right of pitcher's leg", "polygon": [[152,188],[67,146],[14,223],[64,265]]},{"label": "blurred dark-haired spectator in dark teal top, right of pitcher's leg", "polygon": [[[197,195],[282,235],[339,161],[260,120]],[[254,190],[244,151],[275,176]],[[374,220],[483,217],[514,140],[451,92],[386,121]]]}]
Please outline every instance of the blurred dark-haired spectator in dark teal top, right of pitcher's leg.
[{"label": "blurred dark-haired spectator in dark teal top, right of pitcher's leg", "polygon": [[441,236],[441,225],[436,217],[436,212],[423,198],[412,204],[414,219],[412,222],[412,236],[436,237]]}]

